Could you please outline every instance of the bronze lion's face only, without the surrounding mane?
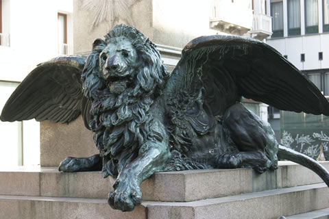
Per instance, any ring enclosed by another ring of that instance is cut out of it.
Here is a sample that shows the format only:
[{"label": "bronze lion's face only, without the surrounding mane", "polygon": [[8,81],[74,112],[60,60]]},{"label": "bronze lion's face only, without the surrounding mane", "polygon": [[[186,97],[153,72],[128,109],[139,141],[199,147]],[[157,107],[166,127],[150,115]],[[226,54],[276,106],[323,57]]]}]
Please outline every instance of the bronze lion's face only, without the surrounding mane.
[{"label": "bronze lion's face only, without the surrounding mane", "polygon": [[121,38],[117,43],[110,43],[99,54],[101,77],[108,84],[111,92],[122,93],[136,75],[141,66],[138,54],[130,40]]}]

